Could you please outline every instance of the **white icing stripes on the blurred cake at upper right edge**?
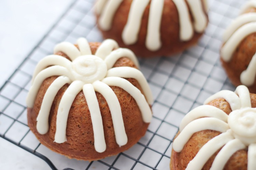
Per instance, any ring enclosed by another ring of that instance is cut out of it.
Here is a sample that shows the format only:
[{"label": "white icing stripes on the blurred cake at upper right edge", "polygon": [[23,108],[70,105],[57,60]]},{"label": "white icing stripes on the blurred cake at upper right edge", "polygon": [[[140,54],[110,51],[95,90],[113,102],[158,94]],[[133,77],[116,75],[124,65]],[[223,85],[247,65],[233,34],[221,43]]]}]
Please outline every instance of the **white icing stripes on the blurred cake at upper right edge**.
[{"label": "white icing stripes on the blurred cake at upper right edge", "polygon": [[[247,2],[241,10],[244,13],[248,8],[256,8],[256,1]],[[221,49],[223,61],[230,62],[232,55],[241,41],[248,35],[256,33],[256,13],[245,13],[238,16],[223,34],[224,45]],[[240,82],[245,86],[252,86],[256,75],[256,53],[247,69],[240,75]]]}]

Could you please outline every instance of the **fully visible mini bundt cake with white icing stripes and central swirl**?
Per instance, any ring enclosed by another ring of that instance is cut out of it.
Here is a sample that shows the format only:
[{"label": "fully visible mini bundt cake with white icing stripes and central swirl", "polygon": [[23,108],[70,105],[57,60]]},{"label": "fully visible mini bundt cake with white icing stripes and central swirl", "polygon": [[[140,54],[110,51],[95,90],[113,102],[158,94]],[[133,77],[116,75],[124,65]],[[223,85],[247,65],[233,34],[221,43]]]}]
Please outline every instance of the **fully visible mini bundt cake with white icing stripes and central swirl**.
[{"label": "fully visible mini bundt cake with white icing stripes and central swirl", "polygon": [[35,68],[28,126],[49,149],[97,160],[127,150],[145,134],[152,94],[131,50],[107,39],[58,44]]}]

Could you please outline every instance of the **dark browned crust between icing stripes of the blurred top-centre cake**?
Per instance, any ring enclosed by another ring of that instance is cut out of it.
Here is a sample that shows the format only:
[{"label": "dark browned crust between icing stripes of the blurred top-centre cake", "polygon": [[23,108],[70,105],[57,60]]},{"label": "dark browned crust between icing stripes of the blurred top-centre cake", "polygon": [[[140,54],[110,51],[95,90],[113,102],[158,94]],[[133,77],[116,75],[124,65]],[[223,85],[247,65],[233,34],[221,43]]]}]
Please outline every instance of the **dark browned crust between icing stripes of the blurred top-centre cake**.
[{"label": "dark browned crust between icing stripes of the blurred top-centre cake", "polygon": [[[127,46],[122,40],[122,32],[128,19],[131,2],[132,0],[124,0],[120,4],[114,15],[112,27],[109,31],[103,31],[100,27],[98,28],[105,39],[111,38],[116,40],[120,47],[129,48],[140,57],[170,56],[179,53],[188,47],[195,45],[198,39],[203,35],[203,33],[194,32],[193,38],[189,41],[181,41],[179,37],[180,20],[177,8],[172,0],[165,0],[160,26],[162,47],[158,51],[150,51],[145,46],[150,4],[147,5],[142,17],[138,41],[136,44]],[[99,16],[97,15],[97,22],[98,19]],[[192,17],[191,20],[193,20]]]}]

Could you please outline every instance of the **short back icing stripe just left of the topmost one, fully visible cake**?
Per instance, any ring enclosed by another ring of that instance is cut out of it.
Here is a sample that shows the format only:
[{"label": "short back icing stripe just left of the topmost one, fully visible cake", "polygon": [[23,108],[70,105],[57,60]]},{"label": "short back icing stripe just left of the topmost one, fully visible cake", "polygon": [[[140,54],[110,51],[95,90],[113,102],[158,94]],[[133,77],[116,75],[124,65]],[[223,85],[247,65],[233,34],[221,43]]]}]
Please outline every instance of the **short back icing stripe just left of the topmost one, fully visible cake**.
[{"label": "short back icing stripe just left of the topmost one, fully visible cake", "polygon": [[62,42],[57,44],[54,48],[54,53],[63,52],[69,56],[71,61],[75,60],[76,57],[81,55],[81,52],[71,43]]}]

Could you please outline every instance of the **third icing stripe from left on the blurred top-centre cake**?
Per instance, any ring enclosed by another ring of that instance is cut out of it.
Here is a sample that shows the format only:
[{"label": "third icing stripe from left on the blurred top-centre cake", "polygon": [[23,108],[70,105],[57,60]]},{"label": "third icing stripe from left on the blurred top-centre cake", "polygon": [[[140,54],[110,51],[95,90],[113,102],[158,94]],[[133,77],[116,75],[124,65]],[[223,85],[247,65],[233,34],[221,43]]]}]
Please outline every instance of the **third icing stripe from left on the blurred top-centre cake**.
[{"label": "third icing stripe from left on the blurred top-centre cake", "polygon": [[128,20],[122,33],[125,45],[134,44],[138,40],[142,16],[149,2],[150,0],[133,0],[131,2]]}]

